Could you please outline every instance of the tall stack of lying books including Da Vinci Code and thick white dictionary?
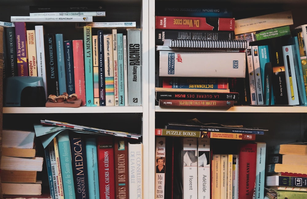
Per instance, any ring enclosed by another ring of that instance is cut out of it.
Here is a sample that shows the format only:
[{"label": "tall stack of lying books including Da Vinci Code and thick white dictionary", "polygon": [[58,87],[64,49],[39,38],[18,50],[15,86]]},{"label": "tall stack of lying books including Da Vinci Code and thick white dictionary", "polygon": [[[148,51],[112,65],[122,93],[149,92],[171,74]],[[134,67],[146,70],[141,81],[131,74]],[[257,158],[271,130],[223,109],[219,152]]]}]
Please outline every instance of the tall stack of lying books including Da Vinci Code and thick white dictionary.
[{"label": "tall stack of lying books including Da Vinci Code and thick white dictionary", "polygon": [[245,78],[247,42],[233,40],[231,9],[165,2],[156,7],[155,25],[157,105],[231,107],[239,103],[238,90],[229,90],[228,81]]}]

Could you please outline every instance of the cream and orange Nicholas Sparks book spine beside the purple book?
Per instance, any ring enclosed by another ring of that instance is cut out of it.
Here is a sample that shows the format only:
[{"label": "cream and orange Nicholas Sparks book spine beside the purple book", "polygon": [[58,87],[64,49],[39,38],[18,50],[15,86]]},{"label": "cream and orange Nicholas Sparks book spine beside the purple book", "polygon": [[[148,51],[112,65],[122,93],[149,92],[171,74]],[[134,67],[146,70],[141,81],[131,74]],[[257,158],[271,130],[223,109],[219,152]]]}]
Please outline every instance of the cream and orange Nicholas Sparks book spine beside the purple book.
[{"label": "cream and orange Nicholas Sparks book spine beside the purple book", "polygon": [[35,30],[27,30],[27,50],[29,63],[29,76],[37,77],[37,56]]}]

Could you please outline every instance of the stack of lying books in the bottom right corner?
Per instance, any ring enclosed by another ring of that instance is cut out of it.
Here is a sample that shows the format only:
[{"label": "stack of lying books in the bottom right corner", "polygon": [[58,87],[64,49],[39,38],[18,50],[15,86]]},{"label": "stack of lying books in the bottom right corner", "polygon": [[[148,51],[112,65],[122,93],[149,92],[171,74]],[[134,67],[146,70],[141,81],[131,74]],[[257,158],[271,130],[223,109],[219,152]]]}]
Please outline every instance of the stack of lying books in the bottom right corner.
[{"label": "stack of lying books in the bottom right corner", "polygon": [[307,197],[307,145],[280,144],[268,149],[266,195]]}]

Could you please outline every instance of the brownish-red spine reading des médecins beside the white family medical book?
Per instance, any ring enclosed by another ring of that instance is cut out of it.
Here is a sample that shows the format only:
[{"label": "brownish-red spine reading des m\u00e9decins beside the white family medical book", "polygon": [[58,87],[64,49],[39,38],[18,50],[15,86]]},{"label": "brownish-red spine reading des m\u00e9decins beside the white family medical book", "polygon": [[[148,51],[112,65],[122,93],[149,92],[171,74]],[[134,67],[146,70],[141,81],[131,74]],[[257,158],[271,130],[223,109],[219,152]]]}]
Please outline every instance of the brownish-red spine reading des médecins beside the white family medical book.
[{"label": "brownish-red spine reading des m\u00e9decins beside the white family medical book", "polygon": [[128,174],[128,143],[127,140],[115,137],[115,198],[129,199],[129,174]]}]

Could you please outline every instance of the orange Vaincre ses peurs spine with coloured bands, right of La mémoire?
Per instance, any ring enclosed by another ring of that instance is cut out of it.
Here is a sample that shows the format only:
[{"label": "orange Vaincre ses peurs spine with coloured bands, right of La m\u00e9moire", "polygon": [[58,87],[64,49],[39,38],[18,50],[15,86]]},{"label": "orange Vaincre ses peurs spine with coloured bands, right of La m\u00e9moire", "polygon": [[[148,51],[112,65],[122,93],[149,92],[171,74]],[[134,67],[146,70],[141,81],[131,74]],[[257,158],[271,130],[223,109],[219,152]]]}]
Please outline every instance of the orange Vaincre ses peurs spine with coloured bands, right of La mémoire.
[{"label": "orange Vaincre ses peurs spine with coloured bands, right of La m\u00e9moire", "polygon": [[98,60],[98,35],[92,36],[93,41],[93,88],[94,104],[100,106],[99,102],[99,60]]}]

